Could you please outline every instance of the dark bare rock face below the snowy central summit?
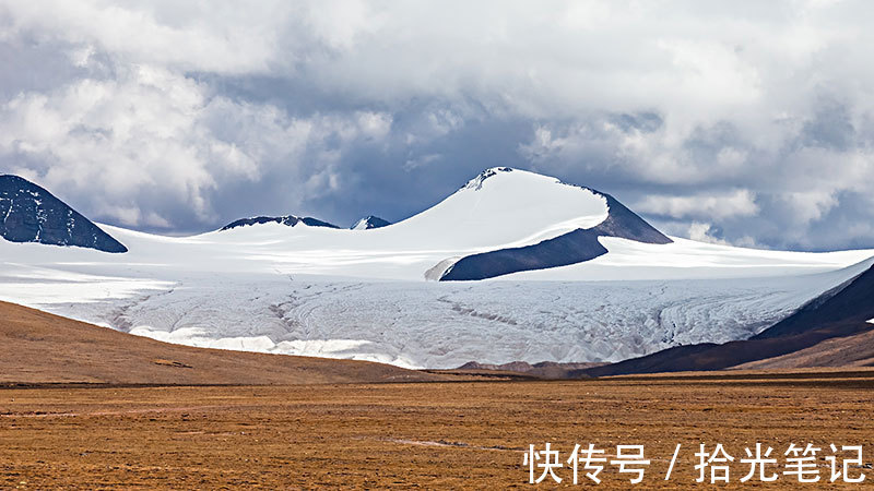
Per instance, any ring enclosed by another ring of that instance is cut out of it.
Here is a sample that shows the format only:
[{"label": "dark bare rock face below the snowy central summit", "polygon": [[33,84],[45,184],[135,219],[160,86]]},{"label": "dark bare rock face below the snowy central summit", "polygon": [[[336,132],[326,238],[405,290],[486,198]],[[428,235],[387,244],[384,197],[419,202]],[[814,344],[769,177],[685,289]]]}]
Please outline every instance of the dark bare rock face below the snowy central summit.
[{"label": "dark bare rock face below the snowy central summit", "polygon": [[610,212],[607,218],[598,226],[575,230],[534,246],[500,249],[462,258],[442,274],[440,280],[494,278],[520,271],[544,270],[591,261],[607,253],[598,241],[599,237],[618,237],[647,243],[672,242],[610,194],[599,194],[606,197]]}]

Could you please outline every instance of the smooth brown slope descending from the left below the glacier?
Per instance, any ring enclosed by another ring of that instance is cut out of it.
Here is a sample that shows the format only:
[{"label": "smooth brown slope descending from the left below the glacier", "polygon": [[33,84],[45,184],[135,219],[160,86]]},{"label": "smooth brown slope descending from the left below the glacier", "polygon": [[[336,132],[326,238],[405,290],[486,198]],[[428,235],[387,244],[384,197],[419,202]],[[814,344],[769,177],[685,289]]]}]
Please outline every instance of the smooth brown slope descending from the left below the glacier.
[{"label": "smooth brown slope descending from the left below the glacier", "polygon": [[365,361],[170,345],[0,302],[0,383],[315,384],[439,379]]}]

